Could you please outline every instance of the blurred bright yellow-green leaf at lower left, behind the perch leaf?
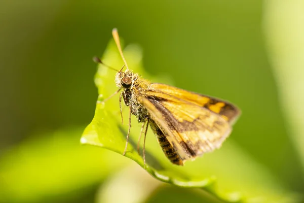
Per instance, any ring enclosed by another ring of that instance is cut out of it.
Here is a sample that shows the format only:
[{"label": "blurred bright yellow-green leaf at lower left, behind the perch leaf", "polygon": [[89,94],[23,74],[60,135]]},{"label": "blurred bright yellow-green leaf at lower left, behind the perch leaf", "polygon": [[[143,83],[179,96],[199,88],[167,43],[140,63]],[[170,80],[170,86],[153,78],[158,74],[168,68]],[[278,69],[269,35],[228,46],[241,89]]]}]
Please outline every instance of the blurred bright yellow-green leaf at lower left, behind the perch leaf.
[{"label": "blurred bright yellow-green leaf at lower left, behind the perch leaf", "polygon": [[116,153],[81,146],[82,130],[37,133],[2,153],[0,202],[77,202],[128,164]]}]

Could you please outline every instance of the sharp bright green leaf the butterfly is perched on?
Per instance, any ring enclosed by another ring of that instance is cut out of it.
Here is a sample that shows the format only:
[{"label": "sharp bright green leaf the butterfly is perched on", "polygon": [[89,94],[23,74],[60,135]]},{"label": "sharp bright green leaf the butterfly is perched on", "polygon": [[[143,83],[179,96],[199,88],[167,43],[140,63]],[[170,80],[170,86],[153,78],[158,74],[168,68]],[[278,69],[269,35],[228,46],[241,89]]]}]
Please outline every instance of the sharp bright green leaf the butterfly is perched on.
[{"label": "sharp bright green leaf the butterfly is perched on", "polygon": [[[129,45],[124,50],[128,66],[153,82],[162,82],[160,78],[151,78],[142,68],[142,52],[136,45]],[[124,64],[115,43],[109,43],[102,61],[116,69]],[[95,84],[98,88],[98,100],[95,116],[85,129],[81,143],[103,147],[123,154],[126,144],[128,111],[123,107],[125,123],[121,123],[118,95],[102,102],[117,90],[115,71],[98,65]],[[164,81],[164,83],[169,83]],[[125,110],[125,111],[124,111]],[[254,161],[239,146],[229,139],[222,148],[185,166],[173,165],[163,154],[151,130],[146,139],[146,166],[137,153],[136,144],[140,125],[132,116],[130,142],[126,157],[137,162],[156,179],[180,187],[199,187],[218,197],[223,202],[295,202],[296,195],[287,193],[281,183],[268,170]],[[238,126],[236,125],[236,128]],[[113,160],[114,161],[114,160]]]}]

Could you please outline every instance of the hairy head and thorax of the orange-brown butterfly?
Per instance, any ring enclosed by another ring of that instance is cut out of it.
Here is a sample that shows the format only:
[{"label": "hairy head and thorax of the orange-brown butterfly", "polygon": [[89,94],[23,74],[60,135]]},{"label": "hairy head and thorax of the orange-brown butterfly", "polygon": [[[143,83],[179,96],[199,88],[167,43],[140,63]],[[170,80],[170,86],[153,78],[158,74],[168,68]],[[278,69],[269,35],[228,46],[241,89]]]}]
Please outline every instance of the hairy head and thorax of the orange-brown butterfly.
[{"label": "hairy head and thorax of the orange-brown butterfly", "polygon": [[[130,85],[123,85],[124,80],[131,79]],[[148,119],[148,111],[138,101],[140,92],[148,89],[150,82],[140,78],[138,74],[134,74],[131,70],[119,72],[115,78],[116,86],[123,88],[122,96],[126,106],[130,107],[131,113],[136,116],[138,122],[145,122]]]}]

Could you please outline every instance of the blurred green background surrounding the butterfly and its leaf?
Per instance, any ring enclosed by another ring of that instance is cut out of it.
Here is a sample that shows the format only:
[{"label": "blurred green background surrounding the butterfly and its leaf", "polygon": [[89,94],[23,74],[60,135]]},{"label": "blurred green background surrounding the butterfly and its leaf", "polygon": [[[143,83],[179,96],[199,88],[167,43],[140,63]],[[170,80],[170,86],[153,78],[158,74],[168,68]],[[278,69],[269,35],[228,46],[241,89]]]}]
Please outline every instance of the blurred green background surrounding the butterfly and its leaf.
[{"label": "blurred green background surrounding the butterfly and its leaf", "polygon": [[[150,75],[239,106],[242,116],[229,139],[288,191],[304,193],[302,1],[1,5],[0,201],[111,202],[101,194],[116,190],[113,179],[137,167],[79,144],[97,98],[92,56],[102,55],[113,27],[125,44],[142,47]],[[125,202],[217,202],[142,176],[155,187]]]}]

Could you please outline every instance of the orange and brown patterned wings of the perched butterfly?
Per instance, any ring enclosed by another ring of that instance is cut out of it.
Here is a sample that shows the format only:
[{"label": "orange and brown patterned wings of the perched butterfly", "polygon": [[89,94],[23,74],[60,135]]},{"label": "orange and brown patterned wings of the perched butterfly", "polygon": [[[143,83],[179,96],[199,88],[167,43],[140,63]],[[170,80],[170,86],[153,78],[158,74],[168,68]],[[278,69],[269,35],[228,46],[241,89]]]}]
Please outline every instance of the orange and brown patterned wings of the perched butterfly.
[{"label": "orange and brown patterned wings of the perched butterfly", "polygon": [[[236,107],[222,100],[164,84],[151,84],[149,89],[139,91],[138,101],[147,108],[182,163],[219,148],[239,114]],[[224,105],[218,103],[231,106],[229,110],[236,113],[226,114],[221,110]]]}]

